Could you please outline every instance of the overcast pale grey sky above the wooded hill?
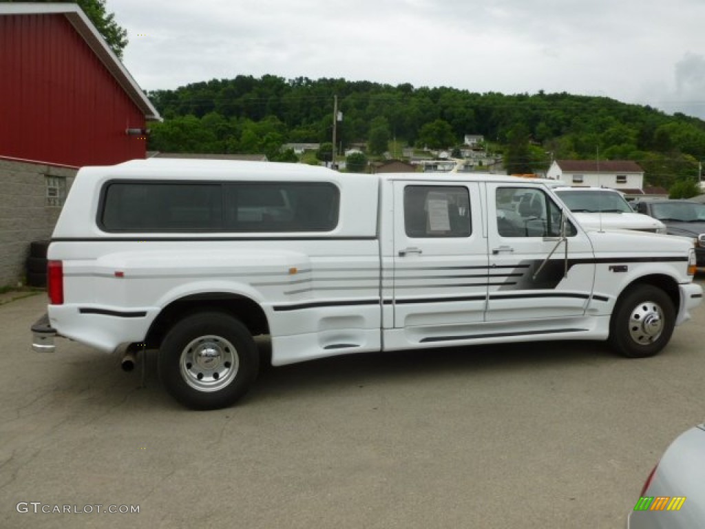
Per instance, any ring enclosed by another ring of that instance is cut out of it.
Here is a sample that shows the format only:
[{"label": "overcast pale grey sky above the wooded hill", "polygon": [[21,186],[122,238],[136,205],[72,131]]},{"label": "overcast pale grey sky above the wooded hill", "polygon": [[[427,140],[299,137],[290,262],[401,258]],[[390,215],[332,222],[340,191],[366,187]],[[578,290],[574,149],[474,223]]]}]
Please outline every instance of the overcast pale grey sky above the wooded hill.
[{"label": "overcast pale grey sky above the wooded hill", "polygon": [[108,0],[145,90],[271,74],[569,92],[705,118],[704,0]]}]

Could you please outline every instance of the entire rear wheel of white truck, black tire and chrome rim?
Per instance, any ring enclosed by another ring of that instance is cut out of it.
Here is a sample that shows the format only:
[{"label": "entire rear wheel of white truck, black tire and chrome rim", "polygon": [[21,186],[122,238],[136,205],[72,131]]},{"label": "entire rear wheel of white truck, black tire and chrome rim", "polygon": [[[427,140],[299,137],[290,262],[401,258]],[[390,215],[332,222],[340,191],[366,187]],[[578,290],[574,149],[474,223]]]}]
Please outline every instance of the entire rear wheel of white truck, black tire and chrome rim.
[{"label": "entire rear wheel of white truck, black tire and chrome rim", "polygon": [[247,327],[224,312],[196,312],[174,324],[159,348],[159,377],[187,408],[214,410],[240,399],[259,370]]}]

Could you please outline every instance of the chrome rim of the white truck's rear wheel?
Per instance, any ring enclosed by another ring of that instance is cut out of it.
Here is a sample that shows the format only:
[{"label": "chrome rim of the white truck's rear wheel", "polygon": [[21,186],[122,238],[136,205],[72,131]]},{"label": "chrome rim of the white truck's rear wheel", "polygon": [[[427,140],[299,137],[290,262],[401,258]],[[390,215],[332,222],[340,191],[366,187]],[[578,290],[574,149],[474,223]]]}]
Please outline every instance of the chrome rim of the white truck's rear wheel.
[{"label": "chrome rim of the white truck's rear wheel", "polygon": [[222,336],[199,336],[190,341],[179,360],[181,376],[198,391],[219,391],[238,374],[238,350]]}]

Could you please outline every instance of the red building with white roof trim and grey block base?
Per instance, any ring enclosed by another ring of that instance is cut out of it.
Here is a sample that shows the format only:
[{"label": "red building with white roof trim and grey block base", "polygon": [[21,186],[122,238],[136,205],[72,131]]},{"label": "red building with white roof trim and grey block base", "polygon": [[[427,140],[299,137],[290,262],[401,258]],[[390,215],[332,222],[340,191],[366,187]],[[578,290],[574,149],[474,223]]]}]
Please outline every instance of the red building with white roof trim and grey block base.
[{"label": "red building with white roof trim and grey block base", "polygon": [[25,275],[83,165],[145,158],[161,119],[76,4],[0,4],[0,286]]}]

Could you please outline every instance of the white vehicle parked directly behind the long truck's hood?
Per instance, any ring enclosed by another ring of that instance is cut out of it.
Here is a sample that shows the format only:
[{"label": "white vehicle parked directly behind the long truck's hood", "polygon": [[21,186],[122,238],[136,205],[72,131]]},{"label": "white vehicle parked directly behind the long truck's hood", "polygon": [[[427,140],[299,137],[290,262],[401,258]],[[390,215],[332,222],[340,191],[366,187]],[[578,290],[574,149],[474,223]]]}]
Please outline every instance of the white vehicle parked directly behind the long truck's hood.
[{"label": "white vehicle parked directly behind the long truck's hood", "polygon": [[585,229],[629,229],[666,233],[666,225],[637,213],[624,195],[610,188],[553,188]]}]

